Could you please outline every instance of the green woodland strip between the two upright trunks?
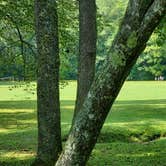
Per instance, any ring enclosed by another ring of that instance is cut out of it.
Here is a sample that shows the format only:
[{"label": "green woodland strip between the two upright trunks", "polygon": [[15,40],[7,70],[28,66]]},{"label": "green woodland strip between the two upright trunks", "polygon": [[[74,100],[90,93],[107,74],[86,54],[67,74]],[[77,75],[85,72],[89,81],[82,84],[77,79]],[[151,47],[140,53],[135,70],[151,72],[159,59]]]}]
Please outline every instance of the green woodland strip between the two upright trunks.
[{"label": "green woodland strip between the two upright trunks", "polygon": [[60,79],[75,80],[78,55],[78,1],[58,1]]}]

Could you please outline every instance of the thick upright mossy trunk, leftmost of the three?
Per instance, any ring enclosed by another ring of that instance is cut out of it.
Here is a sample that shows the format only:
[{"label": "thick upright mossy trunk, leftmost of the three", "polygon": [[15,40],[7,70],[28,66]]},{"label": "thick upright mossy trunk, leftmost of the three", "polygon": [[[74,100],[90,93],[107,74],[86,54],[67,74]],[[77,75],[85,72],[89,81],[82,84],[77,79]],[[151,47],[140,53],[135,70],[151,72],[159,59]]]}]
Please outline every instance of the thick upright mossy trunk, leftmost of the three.
[{"label": "thick upright mossy trunk, leftmost of the three", "polygon": [[59,45],[56,0],[35,0],[38,150],[33,165],[55,164],[61,145]]}]

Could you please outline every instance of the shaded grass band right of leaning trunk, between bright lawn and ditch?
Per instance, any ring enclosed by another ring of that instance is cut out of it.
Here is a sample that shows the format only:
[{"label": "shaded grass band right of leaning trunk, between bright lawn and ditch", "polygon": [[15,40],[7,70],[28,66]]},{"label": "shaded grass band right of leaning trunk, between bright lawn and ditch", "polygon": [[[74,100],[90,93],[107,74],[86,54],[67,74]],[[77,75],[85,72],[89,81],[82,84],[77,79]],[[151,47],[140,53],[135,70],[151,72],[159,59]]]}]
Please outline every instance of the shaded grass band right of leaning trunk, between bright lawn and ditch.
[{"label": "shaded grass band right of leaning trunk, between bright lawn and ditch", "polygon": [[116,101],[110,111],[107,122],[141,124],[145,121],[161,122],[166,120],[166,100]]}]

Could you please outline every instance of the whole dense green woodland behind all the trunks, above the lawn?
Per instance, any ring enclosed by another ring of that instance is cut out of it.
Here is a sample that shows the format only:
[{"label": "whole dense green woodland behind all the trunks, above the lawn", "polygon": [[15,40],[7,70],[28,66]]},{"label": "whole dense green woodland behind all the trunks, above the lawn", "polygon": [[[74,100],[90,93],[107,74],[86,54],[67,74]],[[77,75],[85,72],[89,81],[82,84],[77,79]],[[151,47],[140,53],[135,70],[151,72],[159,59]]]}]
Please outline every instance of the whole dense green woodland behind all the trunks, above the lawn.
[{"label": "whole dense green woodland behind all the trunks, above the lawn", "polygon": [[[60,78],[77,78],[78,2],[58,1]],[[36,39],[34,5],[32,0],[0,1],[0,78],[16,80],[36,78]],[[97,57],[96,70],[109,52],[127,5],[126,0],[97,1]],[[163,18],[154,31],[146,50],[133,67],[129,80],[154,80],[166,77],[166,21]],[[109,36],[109,38],[108,38]]]}]

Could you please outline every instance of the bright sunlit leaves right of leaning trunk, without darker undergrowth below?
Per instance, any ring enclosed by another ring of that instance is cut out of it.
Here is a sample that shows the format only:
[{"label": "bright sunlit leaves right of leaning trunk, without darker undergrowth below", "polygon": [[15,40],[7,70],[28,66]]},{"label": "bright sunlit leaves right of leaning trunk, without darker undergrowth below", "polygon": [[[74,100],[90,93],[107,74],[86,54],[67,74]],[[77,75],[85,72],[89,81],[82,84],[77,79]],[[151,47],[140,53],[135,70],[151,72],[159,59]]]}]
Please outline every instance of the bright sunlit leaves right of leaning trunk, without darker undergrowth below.
[{"label": "bright sunlit leaves right of leaning trunk, without darker undergrowth below", "polygon": [[148,43],[139,65],[153,76],[166,77],[166,17],[156,29]]}]

